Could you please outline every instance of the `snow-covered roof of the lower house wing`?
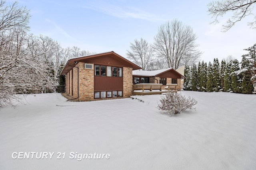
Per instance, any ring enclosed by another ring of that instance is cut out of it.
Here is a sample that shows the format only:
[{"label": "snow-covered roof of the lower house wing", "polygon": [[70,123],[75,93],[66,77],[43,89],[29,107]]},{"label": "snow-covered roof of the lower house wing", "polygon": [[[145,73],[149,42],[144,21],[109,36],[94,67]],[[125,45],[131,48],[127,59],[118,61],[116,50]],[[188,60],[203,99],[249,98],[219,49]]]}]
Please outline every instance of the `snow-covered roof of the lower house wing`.
[{"label": "snow-covered roof of the lower house wing", "polygon": [[182,78],[185,78],[182,74],[180,74],[179,72],[177,72],[176,70],[174,70],[173,68],[165,68],[165,69],[161,69],[161,70],[152,70],[152,71],[146,71],[146,70],[133,70],[132,71],[132,75],[133,76],[154,76],[154,77],[157,77],[159,76],[160,74],[163,74],[165,72],[168,72],[168,71],[172,71],[174,72],[175,74],[179,75],[180,77]]}]

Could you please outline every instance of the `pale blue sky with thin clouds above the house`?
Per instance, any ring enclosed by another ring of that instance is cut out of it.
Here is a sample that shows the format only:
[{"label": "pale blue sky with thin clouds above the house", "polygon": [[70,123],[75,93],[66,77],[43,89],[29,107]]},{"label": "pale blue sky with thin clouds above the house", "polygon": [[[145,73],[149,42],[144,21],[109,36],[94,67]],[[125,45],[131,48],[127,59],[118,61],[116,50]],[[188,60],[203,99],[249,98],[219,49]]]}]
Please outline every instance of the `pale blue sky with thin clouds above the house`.
[{"label": "pale blue sky with thin clouds above the house", "polygon": [[[10,1],[9,1],[10,2]],[[220,61],[232,55],[241,61],[243,49],[256,43],[256,30],[247,19],[228,32],[221,32],[227,17],[217,25],[207,12],[210,0],[21,0],[20,6],[30,10],[30,33],[45,35],[62,47],[77,46],[82,50],[102,53],[114,51],[126,57],[134,39],[154,43],[158,27],[178,19],[190,25],[198,36],[196,43],[203,51],[201,61]],[[250,19],[250,18],[248,18]]]}]

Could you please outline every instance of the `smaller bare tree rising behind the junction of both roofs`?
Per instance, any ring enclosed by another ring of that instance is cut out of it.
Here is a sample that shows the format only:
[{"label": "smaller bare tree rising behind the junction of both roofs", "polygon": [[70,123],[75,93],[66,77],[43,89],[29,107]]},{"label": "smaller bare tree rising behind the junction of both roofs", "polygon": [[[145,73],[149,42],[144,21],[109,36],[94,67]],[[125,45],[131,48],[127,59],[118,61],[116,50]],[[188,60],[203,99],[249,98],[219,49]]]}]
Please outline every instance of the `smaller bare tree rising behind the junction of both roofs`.
[{"label": "smaller bare tree rising behind the junction of both roofs", "polygon": [[154,57],[154,48],[152,45],[145,39],[134,39],[134,43],[130,43],[130,50],[127,50],[127,58],[140,66],[142,70],[148,70],[148,64]]}]

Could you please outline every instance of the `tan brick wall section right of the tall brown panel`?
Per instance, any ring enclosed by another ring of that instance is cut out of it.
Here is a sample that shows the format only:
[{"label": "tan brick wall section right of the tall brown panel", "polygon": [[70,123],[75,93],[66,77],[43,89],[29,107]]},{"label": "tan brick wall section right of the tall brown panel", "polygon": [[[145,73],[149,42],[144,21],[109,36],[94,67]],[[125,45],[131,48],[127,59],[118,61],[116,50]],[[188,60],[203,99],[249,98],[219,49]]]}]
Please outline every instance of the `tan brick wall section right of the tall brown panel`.
[{"label": "tan brick wall section right of the tall brown panel", "polygon": [[132,96],[132,68],[123,67],[123,97]]}]

